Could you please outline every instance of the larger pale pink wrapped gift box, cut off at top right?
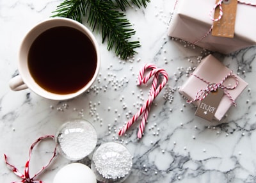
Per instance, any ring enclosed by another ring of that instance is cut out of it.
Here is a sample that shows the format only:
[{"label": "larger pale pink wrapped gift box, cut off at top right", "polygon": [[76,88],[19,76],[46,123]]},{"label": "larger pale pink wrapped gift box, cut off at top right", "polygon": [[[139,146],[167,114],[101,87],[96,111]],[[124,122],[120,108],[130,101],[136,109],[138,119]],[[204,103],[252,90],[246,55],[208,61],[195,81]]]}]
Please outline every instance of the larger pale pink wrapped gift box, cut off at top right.
[{"label": "larger pale pink wrapped gift box, cut off at top right", "polygon": [[255,45],[256,7],[250,4],[237,4],[234,38],[207,35],[213,24],[209,14],[215,4],[216,0],[177,0],[168,35],[223,54]]}]

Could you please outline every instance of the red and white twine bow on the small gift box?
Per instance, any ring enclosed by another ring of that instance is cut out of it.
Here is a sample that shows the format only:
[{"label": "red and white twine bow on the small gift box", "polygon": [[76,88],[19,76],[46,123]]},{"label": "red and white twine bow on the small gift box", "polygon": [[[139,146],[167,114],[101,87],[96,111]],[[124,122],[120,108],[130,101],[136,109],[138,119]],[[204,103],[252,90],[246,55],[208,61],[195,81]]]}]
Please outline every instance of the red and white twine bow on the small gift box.
[{"label": "red and white twine bow on the small gift box", "polygon": [[[205,97],[212,91],[216,91],[218,90],[218,88],[222,88],[223,89],[223,92],[224,94],[228,97],[228,99],[230,99],[232,101],[232,104],[234,106],[236,106],[236,102],[235,100],[233,99],[233,97],[230,95],[230,93],[228,93],[228,90],[234,90],[237,86],[238,86],[238,78],[232,74],[232,71],[230,71],[225,77],[223,77],[223,79],[220,81],[220,83],[216,83],[216,84],[212,84],[210,83],[209,81],[206,81],[204,78],[200,77],[200,76],[197,76],[196,74],[192,74],[192,76],[195,76],[197,77],[198,79],[200,79],[201,81],[204,81],[205,83],[208,84],[208,86],[205,88],[205,89],[201,89],[201,90],[198,90],[198,92],[196,93],[196,97],[195,99],[193,100],[187,100],[187,102],[189,104],[191,104],[192,102],[196,102],[198,100],[204,100]],[[225,86],[223,85],[223,83],[226,81],[226,79],[228,77],[233,77],[236,81],[236,84],[234,86]]]}]

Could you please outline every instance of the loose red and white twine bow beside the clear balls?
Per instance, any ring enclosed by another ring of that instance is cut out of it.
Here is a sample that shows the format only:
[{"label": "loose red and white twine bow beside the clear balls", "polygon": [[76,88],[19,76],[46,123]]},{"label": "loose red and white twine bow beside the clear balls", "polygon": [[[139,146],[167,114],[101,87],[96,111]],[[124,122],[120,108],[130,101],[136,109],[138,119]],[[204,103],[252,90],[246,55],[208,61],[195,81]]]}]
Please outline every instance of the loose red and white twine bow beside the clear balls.
[{"label": "loose red and white twine bow beside the clear balls", "polygon": [[43,166],[43,168],[40,171],[38,171],[33,177],[29,176],[29,162],[30,162],[31,153],[32,153],[33,148],[35,147],[35,145],[37,143],[39,143],[40,141],[42,141],[42,139],[45,139],[45,138],[52,138],[52,139],[54,139],[54,136],[51,136],[51,135],[49,135],[49,136],[42,136],[42,137],[36,139],[36,141],[31,145],[31,147],[29,148],[29,157],[28,157],[28,161],[26,162],[26,165],[25,165],[24,174],[20,173],[20,171],[15,166],[13,166],[12,164],[8,163],[7,156],[6,156],[6,154],[4,154],[4,160],[5,160],[5,163],[6,163],[7,167],[10,170],[12,170],[13,173],[15,173],[15,175],[17,175],[18,177],[20,177],[22,179],[20,181],[16,181],[16,182],[12,182],[12,183],[22,183],[22,182],[27,182],[27,183],[43,183],[42,180],[35,180],[35,177],[37,175],[39,175],[42,171],[44,171],[45,168],[47,168],[47,166],[49,166],[49,164],[52,162],[52,160],[56,156],[57,146],[54,148],[54,152],[53,152],[53,155],[52,155],[49,163],[47,163],[45,166]]}]

